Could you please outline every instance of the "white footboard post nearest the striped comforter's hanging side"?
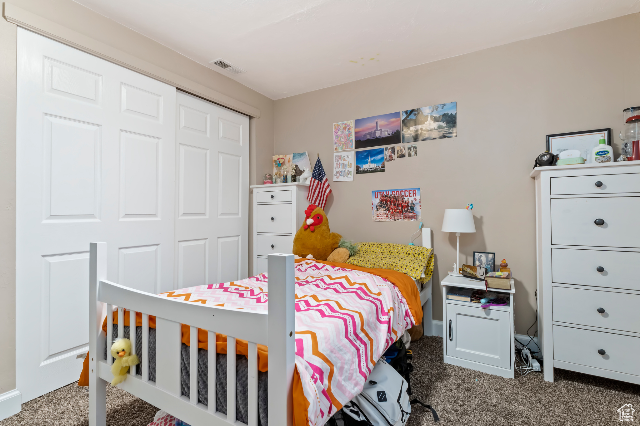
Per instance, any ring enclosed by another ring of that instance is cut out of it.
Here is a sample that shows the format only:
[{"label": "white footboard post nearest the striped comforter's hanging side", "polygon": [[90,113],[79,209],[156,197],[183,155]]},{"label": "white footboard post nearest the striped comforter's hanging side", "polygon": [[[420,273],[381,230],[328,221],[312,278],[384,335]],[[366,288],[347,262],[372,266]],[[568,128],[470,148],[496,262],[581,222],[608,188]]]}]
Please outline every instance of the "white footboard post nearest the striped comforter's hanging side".
[{"label": "white footboard post nearest the striped comforter's hanging side", "polygon": [[270,254],[269,293],[269,425],[293,424],[293,370],[296,366],[294,256]]}]

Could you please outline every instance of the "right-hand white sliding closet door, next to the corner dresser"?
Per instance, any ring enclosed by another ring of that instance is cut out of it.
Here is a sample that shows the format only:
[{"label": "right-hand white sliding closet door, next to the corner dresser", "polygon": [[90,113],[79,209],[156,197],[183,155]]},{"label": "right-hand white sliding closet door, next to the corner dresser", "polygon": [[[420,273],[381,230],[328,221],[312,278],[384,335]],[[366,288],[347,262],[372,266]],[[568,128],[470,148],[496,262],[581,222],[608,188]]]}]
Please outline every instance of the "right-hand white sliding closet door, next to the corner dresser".
[{"label": "right-hand white sliding closet door, next to the corner dresser", "polygon": [[177,92],[176,285],[246,278],[249,118]]}]

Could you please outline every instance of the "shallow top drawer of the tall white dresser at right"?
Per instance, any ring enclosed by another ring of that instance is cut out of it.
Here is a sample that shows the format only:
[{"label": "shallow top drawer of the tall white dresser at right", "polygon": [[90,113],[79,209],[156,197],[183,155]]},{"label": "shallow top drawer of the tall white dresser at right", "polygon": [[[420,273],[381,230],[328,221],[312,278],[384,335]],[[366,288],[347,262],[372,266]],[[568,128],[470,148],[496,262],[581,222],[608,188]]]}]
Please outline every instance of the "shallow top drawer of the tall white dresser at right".
[{"label": "shallow top drawer of the tall white dresser at right", "polygon": [[[596,186],[596,183],[600,186]],[[640,173],[551,178],[551,195],[640,192]]]}]

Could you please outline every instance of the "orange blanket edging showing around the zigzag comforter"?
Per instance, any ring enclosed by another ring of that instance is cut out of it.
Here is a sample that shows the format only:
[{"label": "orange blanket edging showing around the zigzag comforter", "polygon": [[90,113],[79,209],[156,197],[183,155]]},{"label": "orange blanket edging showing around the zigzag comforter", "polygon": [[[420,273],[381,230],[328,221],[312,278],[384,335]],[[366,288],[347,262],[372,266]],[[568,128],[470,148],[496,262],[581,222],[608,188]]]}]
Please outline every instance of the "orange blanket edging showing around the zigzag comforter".
[{"label": "orange blanket edging showing around the zigzag comforter", "polygon": [[[296,263],[305,261],[307,259],[296,259]],[[404,273],[394,271],[394,270],[385,270],[378,268],[364,268],[362,266],[356,266],[352,264],[346,263],[336,263],[336,262],[326,262],[326,261],[316,261],[323,264],[328,264],[330,266],[337,266],[339,268],[346,268],[350,270],[363,271],[366,273],[371,273],[372,275],[378,275],[379,277],[385,278],[388,281],[392,282],[392,284],[396,285],[396,287],[403,294],[407,305],[412,313],[413,318],[415,319],[415,323],[419,324],[422,322],[422,306],[420,305],[420,293],[418,291],[413,278],[405,275]],[[169,292],[168,297],[179,298],[184,295],[180,295],[180,292]],[[174,296],[175,294],[175,296]],[[113,312],[113,323],[118,323],[118,312]],[[129,325],[129,311],[125,310],[124,315],[124,323],[125,326]],[[136,326],[142,325],[142,314],[140,312],[136,313]],[[156,328],[156,317],[149,316],[149,327]],[[102,330],[107,331],[107,319],[105,317],[102,323]],[[202,349],[208,349],[208,341],[207,341],[207,331],[198,328],[198,347]],[[191,344],[191,328],[182,324],[182,342],[187,346]],[[227,353],[227,336],[222,335],[220,333],[216,333],[216,353]],[[248,354],[248,343],[246,340],[237,339],[236,340],[236,353],[247,355]],[[88,386],[88,361],[89,357],[87,356],[84,360],[83,372],[81,373],[79,379],[79,386]],[[268,370],[268,347],[264,345],[258,345],[258,369],[260,371]],[[307,419],[307,411],[309,407],[309,402],[305,398],[304,393],[301,390],[301,380],[300,374],[298,374],[297,368],[294,370],[293,377],[293,409],[294,409],[294,425],[303,426],[308,425]]]}]

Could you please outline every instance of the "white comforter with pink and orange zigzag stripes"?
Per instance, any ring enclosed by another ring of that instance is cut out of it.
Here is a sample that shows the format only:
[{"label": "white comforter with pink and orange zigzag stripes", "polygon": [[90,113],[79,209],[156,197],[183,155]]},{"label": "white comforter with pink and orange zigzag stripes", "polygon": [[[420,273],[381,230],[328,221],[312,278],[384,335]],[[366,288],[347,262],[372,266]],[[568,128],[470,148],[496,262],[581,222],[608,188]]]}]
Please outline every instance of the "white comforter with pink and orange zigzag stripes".
[{"label": "white comforter with pink and orange zigzag stripes", "polygon": [[[303,261],[296,263],[295,276],[301,384],[294,386],[295,423],[322,426],[362,392],[376,361],[415,320],[398,287],[373,273]],[[207,305],[266,310],[267,275],[170,293]],[[300,413],[304,402],[306,422]]]}]

